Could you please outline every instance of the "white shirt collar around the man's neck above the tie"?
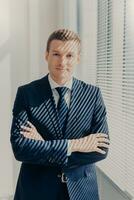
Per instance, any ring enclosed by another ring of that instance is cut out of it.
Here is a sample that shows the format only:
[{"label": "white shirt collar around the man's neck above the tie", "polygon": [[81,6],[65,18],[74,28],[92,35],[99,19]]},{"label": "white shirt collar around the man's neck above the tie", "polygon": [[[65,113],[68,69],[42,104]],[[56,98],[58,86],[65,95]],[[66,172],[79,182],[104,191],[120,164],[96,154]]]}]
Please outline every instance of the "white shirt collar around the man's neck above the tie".
[{"label": "white shirt collar around the man's neck above the tie", "polygon": [[72,83],[73,83],[73,78],[71,78],[68,82],[66,82],[64,85],[59,85],[58,83],[56,83],[50,76],[50,74],[48,75],[48,80],[51,86],[51,89],[55,89],[56,87],[67,87],[71,90],[72,88]]}]

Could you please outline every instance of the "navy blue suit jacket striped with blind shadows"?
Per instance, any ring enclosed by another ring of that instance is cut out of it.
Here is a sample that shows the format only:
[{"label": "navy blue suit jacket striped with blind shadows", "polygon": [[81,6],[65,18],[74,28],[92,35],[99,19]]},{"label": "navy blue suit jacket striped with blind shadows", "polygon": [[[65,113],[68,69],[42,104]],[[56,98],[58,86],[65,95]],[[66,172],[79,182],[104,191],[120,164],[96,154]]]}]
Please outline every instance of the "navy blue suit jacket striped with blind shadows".
[{"label": "navy blue suit jacket striped with blind shadows", "polygon": [[[44,138],[36,141],[20,134],[29,120]],[[106,154],[74,152],[67,156],[67,139],[96,132],[108,134],[106,108],[100,89],[73,78],[66,130],[62,133],[48,75],[18,88],[11,128],[15,158],[22,162],[15,200],[56,200],[57,173],[68,177],[71,200],[98,200],[95,163]]]}]

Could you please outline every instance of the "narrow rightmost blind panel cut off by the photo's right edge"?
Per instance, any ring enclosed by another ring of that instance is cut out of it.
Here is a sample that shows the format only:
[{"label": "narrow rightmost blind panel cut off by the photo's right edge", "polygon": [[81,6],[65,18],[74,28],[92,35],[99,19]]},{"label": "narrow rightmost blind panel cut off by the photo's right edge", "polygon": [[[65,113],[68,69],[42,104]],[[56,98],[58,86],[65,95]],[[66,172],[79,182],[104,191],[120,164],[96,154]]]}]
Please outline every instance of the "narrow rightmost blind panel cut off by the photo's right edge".
[{"label": "narrow rightmost blind panel cut off by the photo's right edge", "polygon": [[126,190],[134,197],[134,1],[125,0],[122,101],[126,133]]}]

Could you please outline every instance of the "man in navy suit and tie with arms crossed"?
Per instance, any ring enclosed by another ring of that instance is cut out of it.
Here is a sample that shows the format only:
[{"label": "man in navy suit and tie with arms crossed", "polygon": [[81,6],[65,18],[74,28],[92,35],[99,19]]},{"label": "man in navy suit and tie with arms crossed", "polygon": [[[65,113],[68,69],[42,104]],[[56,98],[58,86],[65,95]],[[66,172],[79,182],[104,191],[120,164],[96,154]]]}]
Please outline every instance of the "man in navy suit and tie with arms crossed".
[{"label": "man in navy suit and tie with arms crossed", "polygon": [[11,144],[22,162],[15,200],[98,200],[95,163],[109,148],[100,89],[72,76],[80,39],[53,32],[46,48],[49,74],[18,88]]}]

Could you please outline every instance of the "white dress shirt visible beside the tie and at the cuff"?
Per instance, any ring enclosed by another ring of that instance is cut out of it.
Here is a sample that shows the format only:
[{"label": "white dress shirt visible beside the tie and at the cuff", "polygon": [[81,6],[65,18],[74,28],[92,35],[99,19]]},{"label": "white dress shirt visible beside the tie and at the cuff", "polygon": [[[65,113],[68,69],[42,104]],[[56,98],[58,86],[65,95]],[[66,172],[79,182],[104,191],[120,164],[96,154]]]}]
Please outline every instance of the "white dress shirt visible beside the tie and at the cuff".
[{"label": "white dress shirt visible beside the tie and at the cuff", "polygon": [[[50,76],[50,74],[48,75],[48,80],[49,80],[49,83],[50,83],[50,87],[52,89],[52,93],[53,93],[53,96],[54,96],[54,100],[55,100],[55,104],[56,106],[58,105],[58,101],[59,101],[59,93],[58,91],[55,89],[56,87],[67,87],[69,88],[69,90],[66,92],[64,98],[65,98],[65,101],[67,103],[67,106],[69,108],[70,106],[70,100],[71,100],[71,89],[72,89],[72,84],[73,84],[73,78],[71,78],[68,82],[66,82],[65,84],[63,85],[59,85],[58,83],[56,83]],[[70,150],[70,141],[68,140],[68,151],[67,151],[67,155],[70,156],[71,155],[71,150]]]}]

